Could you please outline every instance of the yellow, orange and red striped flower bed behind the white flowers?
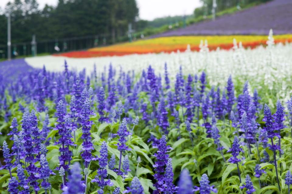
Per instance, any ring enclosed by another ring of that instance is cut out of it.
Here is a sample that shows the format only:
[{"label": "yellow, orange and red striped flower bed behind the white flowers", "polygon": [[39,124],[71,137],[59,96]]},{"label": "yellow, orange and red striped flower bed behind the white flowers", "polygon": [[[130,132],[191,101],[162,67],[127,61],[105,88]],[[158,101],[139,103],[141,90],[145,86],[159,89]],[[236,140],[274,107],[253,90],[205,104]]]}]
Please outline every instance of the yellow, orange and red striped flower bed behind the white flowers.
[{"label": "yellow, orange and red striped flower bed behind the white flowers", "polygon": [[[162,37],[157,39],[138,40],[133,43],[121,43],[111,46],[92,48],[87,51],[73,51],[68,53],[54,54],[56,56],[67,56],[73,58],[88,58],[101,56],[123,56],[129,54],[146,54],[146,53],[171,53],[185,51],[187,42],[190,43],[191,50],[199,51],[201,39],[208,40],[210,50],[231,49],[233,47],[232,39],[242,40],[242,46],[245,48],[255,48],[259,45],[266,45],[267,36],[178,36]],[[275,43],[292,42],[292,35],[276,35]]]}]

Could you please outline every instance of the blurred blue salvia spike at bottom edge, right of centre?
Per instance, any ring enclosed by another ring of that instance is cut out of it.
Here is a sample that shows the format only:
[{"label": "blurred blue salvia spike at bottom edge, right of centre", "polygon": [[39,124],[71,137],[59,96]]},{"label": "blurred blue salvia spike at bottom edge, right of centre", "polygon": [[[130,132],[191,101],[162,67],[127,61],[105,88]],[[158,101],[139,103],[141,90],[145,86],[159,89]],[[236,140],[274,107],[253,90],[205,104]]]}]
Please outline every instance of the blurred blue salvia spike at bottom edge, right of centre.
[{"label": "blurred blue salvia spike at bottom edge, right of centre", "polygon": [[179,176],[177,193],[179,194],[193,194],[193,182],[189,175],[189,171],[185,168],[182,170]]}]

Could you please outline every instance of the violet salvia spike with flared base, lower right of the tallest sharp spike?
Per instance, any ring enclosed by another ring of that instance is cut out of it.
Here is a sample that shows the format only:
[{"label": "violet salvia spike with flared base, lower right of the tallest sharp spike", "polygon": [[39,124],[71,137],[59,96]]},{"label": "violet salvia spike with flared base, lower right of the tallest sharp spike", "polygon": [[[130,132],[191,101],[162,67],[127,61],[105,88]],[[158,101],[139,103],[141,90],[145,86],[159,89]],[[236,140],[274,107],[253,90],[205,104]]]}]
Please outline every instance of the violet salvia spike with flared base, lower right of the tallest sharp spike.
[{"label": "violet salvia spike with flared base, lower right of the tallest sharp spike", "polygon": [[91,182],[96,182],[101,189],[104,189],[106,185],[112,186],[113,183],[108,179],[107,181],[105,178],[107,177],[107,145],[106,141],[103,141],[101,148],[100,148],[100,157],[98,158],[99,161],[99,168],[97,170],[97,175],[95,179],[93,179]]}]

